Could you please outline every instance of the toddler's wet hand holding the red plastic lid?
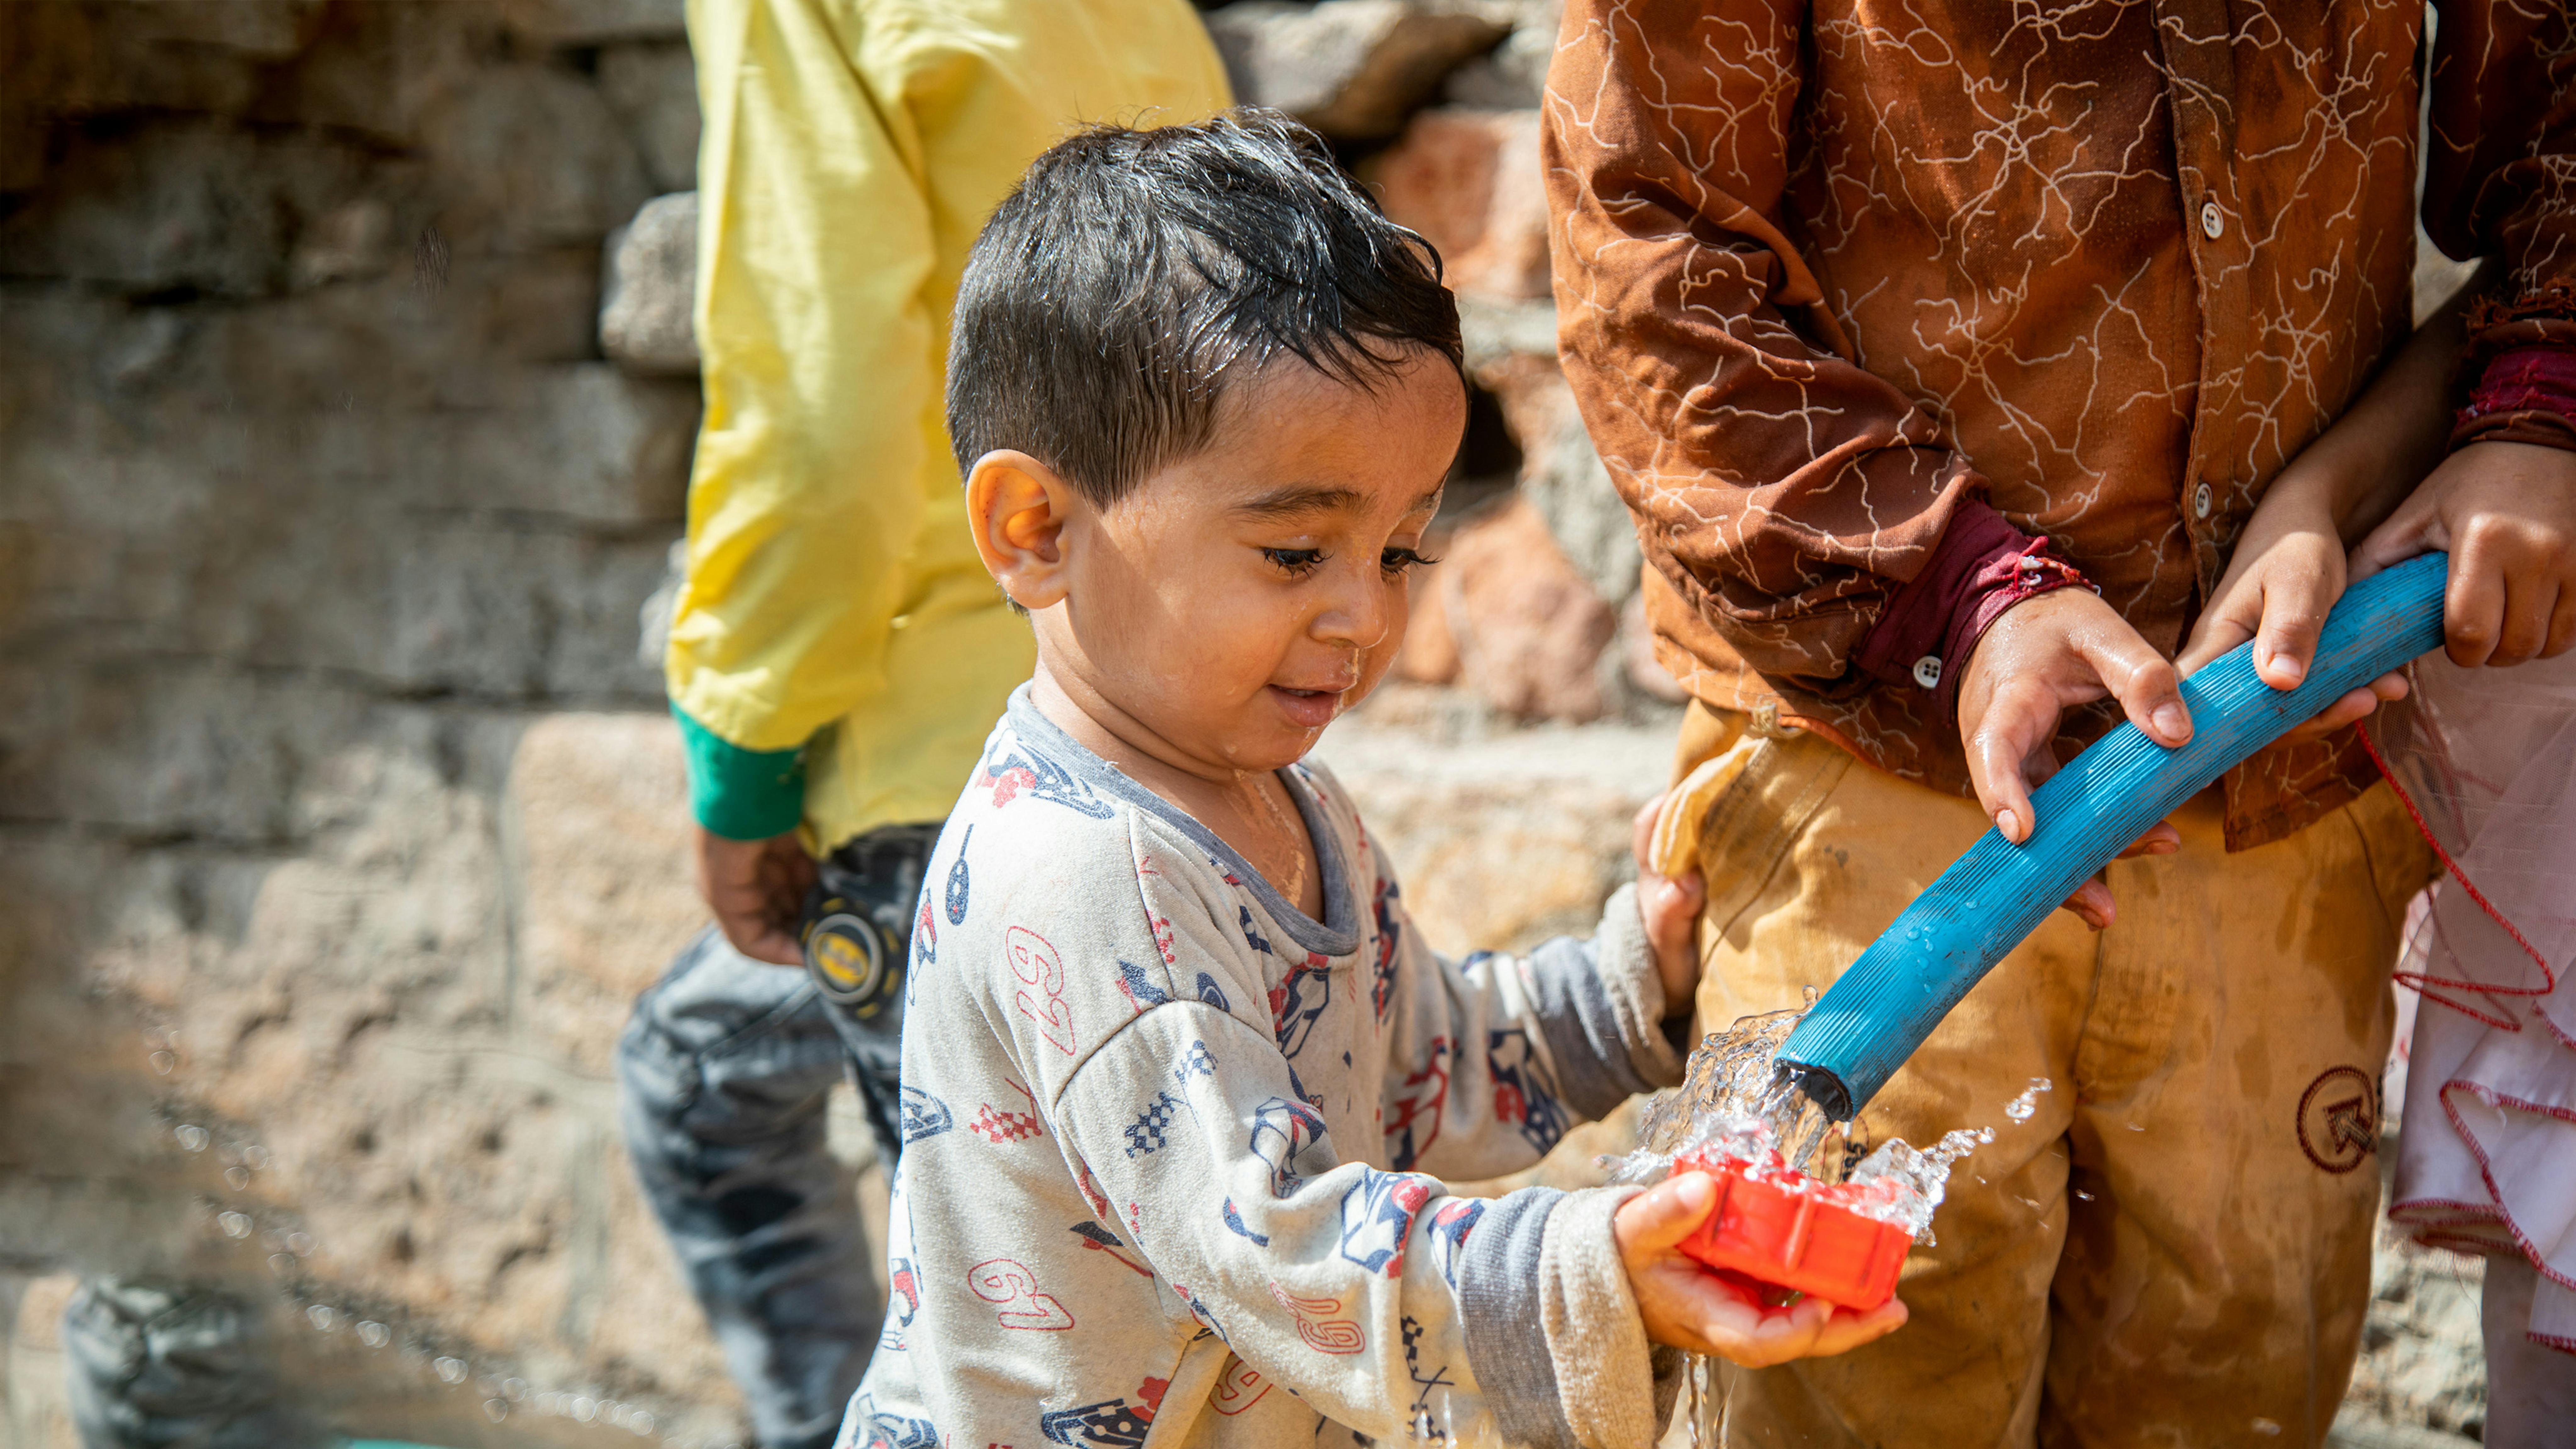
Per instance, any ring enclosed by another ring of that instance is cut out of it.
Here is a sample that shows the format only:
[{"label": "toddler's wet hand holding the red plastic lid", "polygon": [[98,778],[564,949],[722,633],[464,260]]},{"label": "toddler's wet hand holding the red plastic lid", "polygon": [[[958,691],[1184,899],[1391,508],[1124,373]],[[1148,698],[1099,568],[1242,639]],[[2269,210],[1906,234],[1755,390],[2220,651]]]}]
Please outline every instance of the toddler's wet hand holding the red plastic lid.
[{"label": "toddler's wet hand holding the red plastic lid", "polygon": [[1747,1369],[1767,1369],[1860,1348],[1904,1325],[1906,1305],[1893,1297],[1870,1312],[1834,1307],[1821,1297],[1762,1307],[1698,1258],[1677,1253],[1682,1238],[1690,1238],[1716,1207],[1718,1183],[1708,1173],[1682,1173],[1628,1199],[1610,1220],[1618,1256],[1628,1266],[1628,1287],[1646,1320],[1646,1338],[1716,1354]]}]

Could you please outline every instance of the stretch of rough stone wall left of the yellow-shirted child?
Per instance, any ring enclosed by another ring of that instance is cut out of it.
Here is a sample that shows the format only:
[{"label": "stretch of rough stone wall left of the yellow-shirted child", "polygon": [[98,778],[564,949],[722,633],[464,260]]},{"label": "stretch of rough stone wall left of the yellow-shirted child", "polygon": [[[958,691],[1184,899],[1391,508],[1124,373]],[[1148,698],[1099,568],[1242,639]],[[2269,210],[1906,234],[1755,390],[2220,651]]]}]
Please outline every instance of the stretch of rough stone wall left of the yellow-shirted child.
[{"label": "stretch of rough stone wall left of the yellow-shirted child", "polygon": [[729,1441],[605,1070],[698,923],[636,657],[698,400],[595,343],[680,3],[5,5],[0,106],[18,1439],[113,1271],[350,1431]]}]

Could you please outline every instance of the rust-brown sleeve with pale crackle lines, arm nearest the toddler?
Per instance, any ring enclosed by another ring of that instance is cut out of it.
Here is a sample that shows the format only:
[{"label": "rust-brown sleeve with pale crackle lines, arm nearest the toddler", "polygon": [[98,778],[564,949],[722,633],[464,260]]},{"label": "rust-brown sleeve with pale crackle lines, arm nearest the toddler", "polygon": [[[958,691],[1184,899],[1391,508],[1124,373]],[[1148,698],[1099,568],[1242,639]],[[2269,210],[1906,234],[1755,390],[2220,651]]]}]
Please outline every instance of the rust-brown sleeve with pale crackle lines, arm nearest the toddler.
[{"label": "rust-brown sleeve with pale crackle lines, arm nearest the toddler", "polygon": [[1566,382],[1646,559],[1747,665],[1826,688],[1906,678],[1919,642],[1870,639],[1891,598],[2027,539],[1780,227],[1803,31],[1793,0],[1569,0],[1540,147]]}]

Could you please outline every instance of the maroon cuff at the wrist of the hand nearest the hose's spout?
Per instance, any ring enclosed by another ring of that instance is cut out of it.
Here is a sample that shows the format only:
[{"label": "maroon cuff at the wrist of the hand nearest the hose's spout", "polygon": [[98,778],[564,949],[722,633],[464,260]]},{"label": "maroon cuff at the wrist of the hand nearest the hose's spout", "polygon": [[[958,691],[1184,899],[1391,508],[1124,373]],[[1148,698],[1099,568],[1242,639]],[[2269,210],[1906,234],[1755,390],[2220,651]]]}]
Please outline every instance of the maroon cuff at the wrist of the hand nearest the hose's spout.
[{"label": "maroon cuff at the wrist of the hand nearest the hose's spout", "polygon": [[2087,578],[2048,539],[2032,539],[1991,505],[1968,498],[1932,547],[1932,562],[1888,598],[1852,663],[1862,673],[1932,696],[1932,717],[1958,727],[1958,676],[1986,629],[2014,603]]}]

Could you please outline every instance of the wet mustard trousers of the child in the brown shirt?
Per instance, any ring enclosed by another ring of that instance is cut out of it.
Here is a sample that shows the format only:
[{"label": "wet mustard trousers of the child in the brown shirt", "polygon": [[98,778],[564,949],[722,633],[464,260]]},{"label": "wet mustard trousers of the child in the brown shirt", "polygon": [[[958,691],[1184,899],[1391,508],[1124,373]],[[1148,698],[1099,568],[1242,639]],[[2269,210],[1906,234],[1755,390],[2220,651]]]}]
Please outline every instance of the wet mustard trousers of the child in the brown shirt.
[{"label": "wet mustard trousers of the child in the brown shirt", "polygon": [[[1680,768],[1739,730],[1692,706]],[[1986,830],[1816,735],[1749,748],[1700,820],[1703,1031],[1829,987]],[[1860,1114],[1860,1145],[1994,1142],[1906,1263],[1911,1323],[1728,1369],[1723,1444],[2324,1444],[2370,1299],[2388,972],[2434,859],[2385,786],[2233,856],[2213,797],[2174,825],[2182,851],[2107,866],[2110,931],[2050,915]]]}]

